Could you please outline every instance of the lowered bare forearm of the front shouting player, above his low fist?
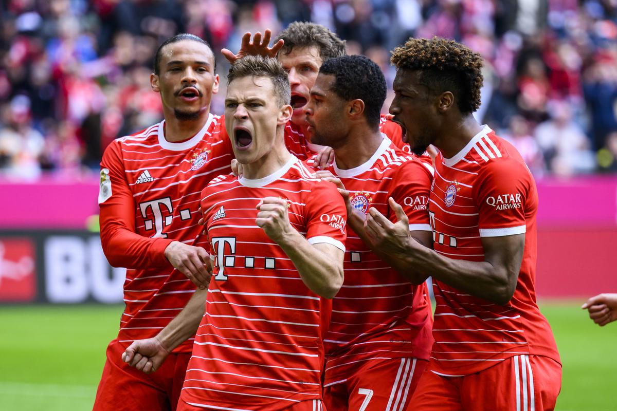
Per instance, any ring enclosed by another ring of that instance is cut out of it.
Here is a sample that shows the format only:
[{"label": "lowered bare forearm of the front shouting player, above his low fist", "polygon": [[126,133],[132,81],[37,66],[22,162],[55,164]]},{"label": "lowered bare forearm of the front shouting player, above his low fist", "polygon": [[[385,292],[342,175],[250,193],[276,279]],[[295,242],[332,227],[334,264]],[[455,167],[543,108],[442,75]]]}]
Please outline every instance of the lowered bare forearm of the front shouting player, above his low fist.
[{"label": "lowered bare forearm of the front shouting player, above his low fist", "polygon": [[180,314],[170,321],[169,324],[155,337],[168,351],[179,346],[197,333],[197,328],[205,312],[205,298],[208,290],[197,288]]}]

